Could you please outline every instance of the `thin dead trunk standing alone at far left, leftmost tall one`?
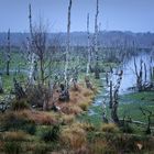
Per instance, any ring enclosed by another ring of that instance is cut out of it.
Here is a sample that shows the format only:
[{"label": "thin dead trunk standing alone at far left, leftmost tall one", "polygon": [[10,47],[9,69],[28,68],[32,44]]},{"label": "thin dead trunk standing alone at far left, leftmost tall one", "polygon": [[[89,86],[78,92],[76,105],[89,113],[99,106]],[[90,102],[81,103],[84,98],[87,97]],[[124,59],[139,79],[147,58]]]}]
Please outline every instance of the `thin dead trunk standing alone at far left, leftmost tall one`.
[{"label": "thin dead trunk standing alone at far left, leftmost tall one", "polygon": [[10,29],[8,31],[8,47],[7,47],[7,75],[10,75],[10,51],[11,51],[11,45],[10,45]]}]

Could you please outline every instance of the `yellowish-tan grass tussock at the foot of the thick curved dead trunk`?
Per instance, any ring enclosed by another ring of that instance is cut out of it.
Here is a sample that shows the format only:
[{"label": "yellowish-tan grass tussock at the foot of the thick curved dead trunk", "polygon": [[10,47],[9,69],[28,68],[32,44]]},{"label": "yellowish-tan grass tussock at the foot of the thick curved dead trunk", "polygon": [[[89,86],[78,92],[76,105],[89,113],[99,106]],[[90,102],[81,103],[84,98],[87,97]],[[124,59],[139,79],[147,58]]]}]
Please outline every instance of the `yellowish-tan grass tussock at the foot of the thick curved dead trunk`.
[{"label": "yellowish-tan grass tussock at the foot of the thick curved dead trunk", "polygon": [[117,132],[119,132],[119,128],[114,123],[102,124],[101,130],[103,132],[108,132],[108,133],[117,133]]}]

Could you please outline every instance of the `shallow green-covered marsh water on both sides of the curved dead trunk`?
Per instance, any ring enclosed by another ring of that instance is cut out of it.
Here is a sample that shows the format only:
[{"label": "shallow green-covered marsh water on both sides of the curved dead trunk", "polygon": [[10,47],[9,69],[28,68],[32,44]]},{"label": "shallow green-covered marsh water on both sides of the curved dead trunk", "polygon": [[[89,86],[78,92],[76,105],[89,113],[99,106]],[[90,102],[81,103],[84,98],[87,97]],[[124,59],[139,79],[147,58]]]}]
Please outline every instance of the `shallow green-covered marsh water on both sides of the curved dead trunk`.
[{"label": "shallow green-covered marsh water on both sides of the curved dead trunk", "polygon": [[[102,124],[102,112],[106,112],[108,119],[110,120],[110,109],[109,105],[109,90],[106,86],[105,75],[101,75],[99,92],[94,99],[94,103],[88,108],[88,111],[84,112],[80,117],[80,121],[86,121],[100,127]],[[106,101],[106,106],[103,105]],[[146,123],[147,117],[142,114],[140,108],[154,111],[154,91],[145,92],[130,92],[122,94],[119,97],[119,109],[118,114],[120,119],[123,117],[131,118],[134,121],[141,121]],[[152,123],[154,125],[154,117],[152,118]],[[135,127],[136,128],[136,127]]]}]

